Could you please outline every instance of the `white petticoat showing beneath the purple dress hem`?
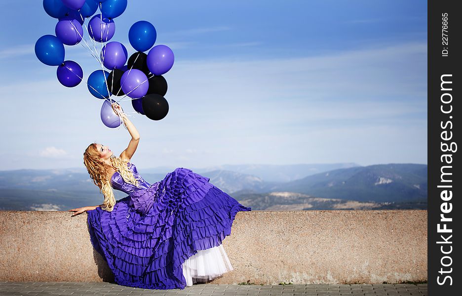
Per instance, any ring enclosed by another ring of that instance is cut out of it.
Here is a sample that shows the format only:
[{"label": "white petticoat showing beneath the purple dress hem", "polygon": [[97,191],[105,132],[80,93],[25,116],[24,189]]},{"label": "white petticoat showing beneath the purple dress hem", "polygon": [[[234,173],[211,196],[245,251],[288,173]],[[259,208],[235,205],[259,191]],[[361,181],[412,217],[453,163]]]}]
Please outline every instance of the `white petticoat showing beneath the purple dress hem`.
[{"label": "white petticoat showing beneath the purple dress hem", "polygon": [[223,244],[207,250],[199,250],[197,254],[183,262],[183,275],[187,287],[192,286],[193,283],[207,282],[231,270],[233,268]]}]

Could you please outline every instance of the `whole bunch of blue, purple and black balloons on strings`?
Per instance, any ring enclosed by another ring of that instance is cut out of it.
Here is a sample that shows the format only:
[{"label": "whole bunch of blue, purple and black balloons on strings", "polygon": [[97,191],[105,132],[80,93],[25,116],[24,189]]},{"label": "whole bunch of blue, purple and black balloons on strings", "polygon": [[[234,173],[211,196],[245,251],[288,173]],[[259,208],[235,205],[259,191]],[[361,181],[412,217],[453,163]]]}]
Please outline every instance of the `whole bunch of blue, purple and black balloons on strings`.
[{"label": "whole bunch of blue, purple and black balloons on strings", "polygon": [[[81,44],[90,52],[101,69],[88,76],[88,91],[104,100],[101,120],[111,128],[122,123],[111,103],[126,97],[135,111],[152,120],[160,120],[168,113],[164,98],[167,81],[162,74],[172,68],[174,55],[166,45],[154,46],[157,37],[154,26],[138,21],[130,27],[128,40],[137,51],[130,57],[122,43],[108,42],[116,32],[114,19],[126,7],[127,0],[43,0],[45,12],[58,22],[55,35],[44,35],[35,44],[37,58],[45,65],[58,66],[58,81],[66,87],[77,86],[83,80],[83,70],[77,62],[65,61],[64,44]],[[113,95],[121,98],[114,100]]]}]

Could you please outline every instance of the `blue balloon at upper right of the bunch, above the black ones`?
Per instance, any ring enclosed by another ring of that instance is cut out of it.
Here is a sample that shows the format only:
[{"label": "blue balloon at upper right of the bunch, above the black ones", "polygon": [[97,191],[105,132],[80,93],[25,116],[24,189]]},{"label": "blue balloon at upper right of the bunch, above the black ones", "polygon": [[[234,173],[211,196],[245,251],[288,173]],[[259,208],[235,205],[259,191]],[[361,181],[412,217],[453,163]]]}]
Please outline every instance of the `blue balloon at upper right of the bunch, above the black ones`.
[{"label": "blue balloon at upper right of the bunch, above the black ones", "polygon": [[154,26],[147,21],[134,23],[128,31],[128,40],[136,51],[146,51],[153,47],[156,37]]}]

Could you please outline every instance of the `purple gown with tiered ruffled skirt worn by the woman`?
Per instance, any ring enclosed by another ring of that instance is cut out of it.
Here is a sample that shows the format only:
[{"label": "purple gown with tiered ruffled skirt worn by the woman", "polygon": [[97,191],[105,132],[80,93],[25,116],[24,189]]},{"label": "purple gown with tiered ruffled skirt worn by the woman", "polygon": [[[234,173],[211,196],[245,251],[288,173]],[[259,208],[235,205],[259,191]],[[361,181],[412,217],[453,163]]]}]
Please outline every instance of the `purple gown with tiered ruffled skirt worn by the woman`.
[{"label": "purple gown with tiered ruffled skirt worn by the woman", "polygon": [[236,213],[251,208],[190,169],[176,168],[150,185],[134,164],[128,167],[139,187],[114,173],[113,188],[129,195],[112,212],[87,211],[91,243],[119,285],[184,289],[185,260],[220,246],[231,234]]}]

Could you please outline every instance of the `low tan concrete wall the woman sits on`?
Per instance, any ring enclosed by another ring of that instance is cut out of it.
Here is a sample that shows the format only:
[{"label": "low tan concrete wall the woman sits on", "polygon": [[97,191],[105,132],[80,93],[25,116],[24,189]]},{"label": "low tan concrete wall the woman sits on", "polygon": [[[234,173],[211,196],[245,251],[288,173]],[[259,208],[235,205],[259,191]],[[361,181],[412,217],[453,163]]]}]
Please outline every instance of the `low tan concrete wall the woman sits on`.
[{"label": "low tan concrete wall the woman sits on", "polygon": [[[113,281],[87,214],[0,211],[0,281]],[[223,246],[234,270],[209,283],[396,283],[427,278],[427,213],[239,212]]]}]

